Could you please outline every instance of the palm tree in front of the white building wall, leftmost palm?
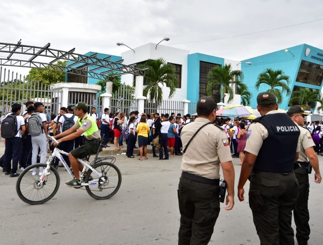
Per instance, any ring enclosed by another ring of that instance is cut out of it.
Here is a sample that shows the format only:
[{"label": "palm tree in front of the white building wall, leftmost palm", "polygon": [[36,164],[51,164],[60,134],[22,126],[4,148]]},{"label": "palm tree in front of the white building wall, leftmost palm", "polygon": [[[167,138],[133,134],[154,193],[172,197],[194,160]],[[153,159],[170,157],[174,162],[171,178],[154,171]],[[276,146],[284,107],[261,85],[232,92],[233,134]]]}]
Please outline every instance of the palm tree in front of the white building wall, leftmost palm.
[{"label": "palm tree in front of the white building wall, leftmost palm", "polygon": [[163,58],[147,60],[142,67],[147,67],[144,79],[147,81],[143,94],[150,101],[159,106],[163,101],[163,87],[170,88],[168,98],[172,98],[176,92],[177,76],[172,64],[167,64]]}]

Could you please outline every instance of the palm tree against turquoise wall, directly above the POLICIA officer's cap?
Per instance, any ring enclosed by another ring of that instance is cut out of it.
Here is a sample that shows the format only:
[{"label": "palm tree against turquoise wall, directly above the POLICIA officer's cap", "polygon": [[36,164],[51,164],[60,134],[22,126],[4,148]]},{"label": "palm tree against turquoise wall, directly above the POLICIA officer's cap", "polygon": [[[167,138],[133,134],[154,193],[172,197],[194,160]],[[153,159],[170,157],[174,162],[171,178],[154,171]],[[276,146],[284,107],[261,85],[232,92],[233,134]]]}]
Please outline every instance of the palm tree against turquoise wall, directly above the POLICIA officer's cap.
[{"label": "palm tree against turquoise wall, directly above the POLICIA officer's cap", "polygon": [[[271,68],[267,68],[265,71],[259,74],[257,82],[254,84],[255,88],[258,90],[260,84],[262,83],[270,86],[267,91],[275,94],[278,104],[283,102],[284,92],[286,92],[286,95],[290,94],[290,80],[282,70],[273,70]],[[282,89],[276,87],[282,87]]]}]

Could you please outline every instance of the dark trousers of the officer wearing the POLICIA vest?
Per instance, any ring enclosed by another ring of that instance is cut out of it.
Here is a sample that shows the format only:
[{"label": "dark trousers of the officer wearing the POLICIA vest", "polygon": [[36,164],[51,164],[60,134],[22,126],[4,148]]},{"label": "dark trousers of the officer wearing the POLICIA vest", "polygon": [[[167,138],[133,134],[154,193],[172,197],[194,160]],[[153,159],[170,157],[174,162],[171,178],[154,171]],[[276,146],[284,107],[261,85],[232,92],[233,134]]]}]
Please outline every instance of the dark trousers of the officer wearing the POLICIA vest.
[{"label": "dark trousers of the officer wearing the POLICIA vest", "polygon": [[297,197],[294,172],[251,175],[249,205],[261,245],[294,244],[291,217]]}]

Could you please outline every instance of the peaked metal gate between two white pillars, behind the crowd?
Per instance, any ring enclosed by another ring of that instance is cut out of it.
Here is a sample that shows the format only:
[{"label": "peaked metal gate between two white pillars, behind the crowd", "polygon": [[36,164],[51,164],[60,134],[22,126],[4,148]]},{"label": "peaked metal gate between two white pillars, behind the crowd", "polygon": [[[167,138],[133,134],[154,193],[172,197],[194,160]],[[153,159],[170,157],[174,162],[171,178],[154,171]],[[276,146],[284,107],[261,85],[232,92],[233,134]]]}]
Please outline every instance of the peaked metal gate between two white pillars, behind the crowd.
[{"label": "peaked metal gate between two white pillars, behind the crowd", "polygon": [[110,103],[110,113],[125,112],[129,115],[131,111],[137,110],[137,101],[135,99],[135,89],[121,84],[119,89],[112,94]]}]

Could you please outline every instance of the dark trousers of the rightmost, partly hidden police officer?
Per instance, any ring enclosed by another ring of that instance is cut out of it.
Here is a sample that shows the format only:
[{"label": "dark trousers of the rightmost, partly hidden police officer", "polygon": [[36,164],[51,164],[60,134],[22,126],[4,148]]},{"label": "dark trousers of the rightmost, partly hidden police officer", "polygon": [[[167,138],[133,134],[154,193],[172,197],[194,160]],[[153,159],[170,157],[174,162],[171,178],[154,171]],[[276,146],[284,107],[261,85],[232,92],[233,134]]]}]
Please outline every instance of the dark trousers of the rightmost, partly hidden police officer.
[{"label": "dark trousers of the rightmost, partly hidden police officer", "polygon": [[298,243],[305,243],[310,239],[310,213],[308,211],[308,197],[310,183],[308,181],[307,168],[301,166],[295,169],[295,176],[298,180],[298,199],[294,209],[294,221],[296,224],[296,239]]}]

